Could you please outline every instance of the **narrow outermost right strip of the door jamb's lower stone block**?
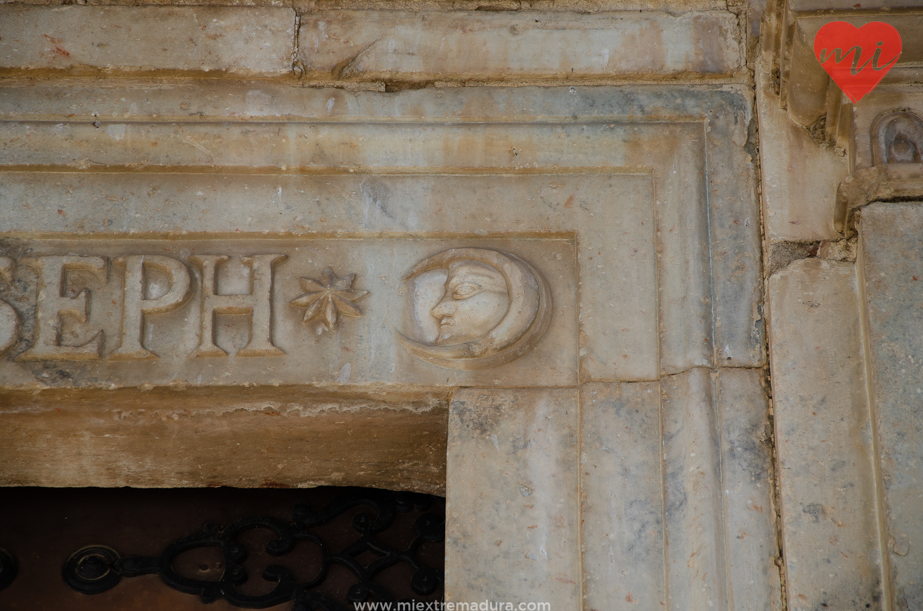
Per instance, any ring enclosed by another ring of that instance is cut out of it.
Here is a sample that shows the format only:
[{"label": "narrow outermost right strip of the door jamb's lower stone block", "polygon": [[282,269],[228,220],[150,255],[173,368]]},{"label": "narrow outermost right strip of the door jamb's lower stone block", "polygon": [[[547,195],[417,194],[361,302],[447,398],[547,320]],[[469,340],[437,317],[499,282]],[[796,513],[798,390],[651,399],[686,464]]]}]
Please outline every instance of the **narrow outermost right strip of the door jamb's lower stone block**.
[{"label": "narrow outermost right strip of the door jamb's lower stone block", "polygon": [[760,369],[718,372],[729,609],[784,608],[773,508],[772,432]]}]

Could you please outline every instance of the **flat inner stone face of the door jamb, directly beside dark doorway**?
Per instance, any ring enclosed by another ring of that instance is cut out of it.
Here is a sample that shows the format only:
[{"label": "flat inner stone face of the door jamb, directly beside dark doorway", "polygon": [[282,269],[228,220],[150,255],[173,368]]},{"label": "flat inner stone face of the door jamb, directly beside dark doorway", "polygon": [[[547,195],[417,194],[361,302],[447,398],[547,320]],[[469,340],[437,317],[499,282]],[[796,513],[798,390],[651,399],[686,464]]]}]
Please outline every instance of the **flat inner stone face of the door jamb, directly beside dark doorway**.
[{"label": "flat inner stone face of the door jamb, directly beside dark doorway", "polygon": [[576,389],[452,397],[446,600],[579,605],[579,410]]}]

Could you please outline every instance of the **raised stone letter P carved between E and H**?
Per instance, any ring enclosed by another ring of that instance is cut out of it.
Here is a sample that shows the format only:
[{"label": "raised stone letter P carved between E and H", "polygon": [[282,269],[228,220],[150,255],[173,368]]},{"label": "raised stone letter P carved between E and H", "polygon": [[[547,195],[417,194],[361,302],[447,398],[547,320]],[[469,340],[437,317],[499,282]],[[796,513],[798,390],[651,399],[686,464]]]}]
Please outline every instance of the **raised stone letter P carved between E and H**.
[{"label": "raised stone letter P carved between E and H", "polygon": [[[122,283],[122,343],[109,355],[110,361],[158,358],[141,345],[144,315],[171,312],[189,298],[189,270],[182,261],[163,255],[131,255],[114,259],[125,269]],[[170,282],[170,290],[155,299],[144,298],[145,270],[158,270]]]}]

